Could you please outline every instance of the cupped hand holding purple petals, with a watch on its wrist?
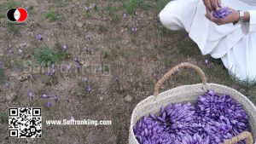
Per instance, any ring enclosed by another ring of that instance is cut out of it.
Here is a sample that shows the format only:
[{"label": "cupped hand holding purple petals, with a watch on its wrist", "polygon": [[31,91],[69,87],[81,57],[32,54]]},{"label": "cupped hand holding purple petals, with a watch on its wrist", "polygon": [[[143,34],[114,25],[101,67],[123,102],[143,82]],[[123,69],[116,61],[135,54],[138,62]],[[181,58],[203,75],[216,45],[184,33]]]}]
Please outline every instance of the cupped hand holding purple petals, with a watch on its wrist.
[{"label": "cupped hand holding purple petals, with a watch on its wrist", "polygon": [[209,11],[207,9],[206,17],[207,17],[208,20],[211,20],[212,22],[214,22],[218,26],[224,25],[224,24],[229,24],[229,23],[234,23],[237,20],[239,20],[239,13],[235,9],[231,9],[231,10],[232,10],[232,14],[228,15],[224,19],[218,19],[218,18],[215,18],[215,17],[212,16],[213,11]]}]

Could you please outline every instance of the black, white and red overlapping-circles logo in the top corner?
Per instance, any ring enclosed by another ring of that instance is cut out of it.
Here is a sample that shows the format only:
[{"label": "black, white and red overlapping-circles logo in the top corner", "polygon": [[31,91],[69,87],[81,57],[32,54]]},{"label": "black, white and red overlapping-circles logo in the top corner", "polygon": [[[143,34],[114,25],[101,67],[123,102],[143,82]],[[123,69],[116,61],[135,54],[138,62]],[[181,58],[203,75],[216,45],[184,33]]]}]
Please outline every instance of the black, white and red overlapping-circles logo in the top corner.
[{"label": "black, white and red overlapping-circles logo in the top corner", "polygon": [[7,12],[7,18],[10,21],[24,22],[27,18],[27,11],[24,8],[9,9]]}]

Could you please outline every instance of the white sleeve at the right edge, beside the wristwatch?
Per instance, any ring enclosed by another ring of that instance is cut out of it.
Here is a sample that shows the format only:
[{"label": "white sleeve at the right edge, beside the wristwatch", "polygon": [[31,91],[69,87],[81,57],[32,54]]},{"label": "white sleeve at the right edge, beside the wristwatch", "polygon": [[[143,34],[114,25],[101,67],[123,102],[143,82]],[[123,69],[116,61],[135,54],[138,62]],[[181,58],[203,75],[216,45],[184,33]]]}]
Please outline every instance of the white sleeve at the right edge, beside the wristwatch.
[{"label": "white sleeve at the right edge, beside the wristwatch", "polygon": [[241,24],[241,30],[245,34],[249,32],[256,32],[256,10],[248,11],[250,14],[250,22]]}]

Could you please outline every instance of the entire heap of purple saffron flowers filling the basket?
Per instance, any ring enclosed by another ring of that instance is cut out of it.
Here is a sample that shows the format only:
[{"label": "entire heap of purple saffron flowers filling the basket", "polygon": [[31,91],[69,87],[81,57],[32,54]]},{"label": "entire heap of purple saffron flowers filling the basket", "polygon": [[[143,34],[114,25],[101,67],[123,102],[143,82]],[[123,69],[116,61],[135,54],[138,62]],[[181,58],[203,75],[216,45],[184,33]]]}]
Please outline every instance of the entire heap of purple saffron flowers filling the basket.
[{"label": "entire heap of purple saffron flowers filling the basket", "polygon": [[250,131],[248,125],[247,112],[230,95],[208,90],[195,106],[173,103],[161,107],[160,116],[139,119],[133,132],[140,144],[218,144]]}]

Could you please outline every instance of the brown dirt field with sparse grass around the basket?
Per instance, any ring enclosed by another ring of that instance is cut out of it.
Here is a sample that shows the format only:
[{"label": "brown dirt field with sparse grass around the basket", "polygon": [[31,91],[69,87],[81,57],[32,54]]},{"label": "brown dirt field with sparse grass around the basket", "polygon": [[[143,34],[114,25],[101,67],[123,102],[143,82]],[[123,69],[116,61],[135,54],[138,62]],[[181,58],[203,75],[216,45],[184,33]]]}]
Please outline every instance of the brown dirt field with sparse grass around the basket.
[{"label": "brown dirt field with sparse grass around the basket", "polygon": [[[232,80],[221,60],[201,55],[186,32],[161,26],[157,15],[166,3],[1,1],[0,143],[125,144],[133,108],[153,95],[154,84],[165,72],[184,61],[201,66],[208,82],[237,89],[256,103],[256,86]],[[20,7],[28,10],[28,19],[14,25],[5,14],[9,8]],[[52,65],[55,74],[49,76]],[[198,83],[195,72],[186,70],[161,90]],[[46,107],[46,102],[52,106]],[[43,137],[10,139],[9,107],[42,107]],[[113,124],[45,124],[45,120],[72,117],[112,120]]]}]

